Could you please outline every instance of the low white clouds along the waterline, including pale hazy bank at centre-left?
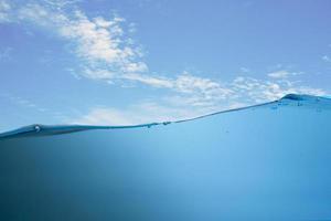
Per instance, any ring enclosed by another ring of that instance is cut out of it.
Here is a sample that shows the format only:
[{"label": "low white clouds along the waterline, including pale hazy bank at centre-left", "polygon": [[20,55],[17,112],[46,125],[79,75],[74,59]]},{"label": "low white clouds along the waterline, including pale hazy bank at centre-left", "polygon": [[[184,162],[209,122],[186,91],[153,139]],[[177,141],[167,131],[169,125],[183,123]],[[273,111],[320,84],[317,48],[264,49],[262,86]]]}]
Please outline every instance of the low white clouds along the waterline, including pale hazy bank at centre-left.
[{"label": "low white clouds along the waterline, including pale hazy bank at centre-left", "polygon": [[295,82],[284,80],[270,82],[253,77],[236,77],[232,82],[221,84],[207,78],[195,77],[188,73],[172,80],[158,77],[152,80],[148,78],[141,82],[154,87],[170,88],[174,93],[122,109],[95,107],[74,123],[136,125],[179,120],[217,110],[270,102],[290,93],[319,96],[327,94],[323,90],[301,86]]}]

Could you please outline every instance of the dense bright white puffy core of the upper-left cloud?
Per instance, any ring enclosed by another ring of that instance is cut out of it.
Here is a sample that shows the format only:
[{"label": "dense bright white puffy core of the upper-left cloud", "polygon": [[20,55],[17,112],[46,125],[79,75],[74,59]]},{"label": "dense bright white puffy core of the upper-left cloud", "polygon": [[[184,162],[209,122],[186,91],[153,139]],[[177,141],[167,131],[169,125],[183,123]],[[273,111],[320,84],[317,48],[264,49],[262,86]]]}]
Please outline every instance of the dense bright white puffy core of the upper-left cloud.
[{"label": "dense bright white puffy core of the upper-left cloud", "polygon": [[[62,36],[77,43],[76,53],[88,62],[105,62],[111,65],[125,65],[134,56],[134,50],[120,46],[122,30],[120,19],[106,21],[103,18],[87,19],[76,12],[76,20],[70,20],[60,29]],[[121,67],[121,66],[120,66]]]}]

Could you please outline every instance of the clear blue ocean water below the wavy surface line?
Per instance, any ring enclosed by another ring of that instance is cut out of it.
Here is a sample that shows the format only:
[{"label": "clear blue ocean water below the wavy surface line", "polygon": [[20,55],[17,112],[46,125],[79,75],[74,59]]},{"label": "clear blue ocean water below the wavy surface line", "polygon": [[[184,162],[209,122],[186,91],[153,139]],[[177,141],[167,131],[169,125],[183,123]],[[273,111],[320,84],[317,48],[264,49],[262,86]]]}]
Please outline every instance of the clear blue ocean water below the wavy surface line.
[{"label": "clear blue ocean water below the wavy surface line", "polygon": [[331,99],[0,135],[0,220],[331,220]]}]

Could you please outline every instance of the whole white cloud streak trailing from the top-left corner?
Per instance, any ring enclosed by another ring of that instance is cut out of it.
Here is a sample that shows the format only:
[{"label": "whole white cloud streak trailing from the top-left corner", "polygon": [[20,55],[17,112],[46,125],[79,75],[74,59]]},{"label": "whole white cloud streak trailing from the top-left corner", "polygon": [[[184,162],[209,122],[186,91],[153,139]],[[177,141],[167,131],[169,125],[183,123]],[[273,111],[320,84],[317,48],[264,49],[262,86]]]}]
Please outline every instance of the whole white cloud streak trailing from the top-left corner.
[{"label": "whole white cloud streak trailing from the top-left corner", "polygon": [[[119,77],[121,74],[148,70],[147,64],[141,61],[140,48],[126,36],[122,25],[125,19],[117,15],[111,19],[88,18],[76,8],[63,10],[74,2],[76,1],[47,0],[43,3],[13,3],[11,7],[8,2],[0,1],[0,22],[30,22],[67,40],[82,63],[76,75],[108,81],[110,76]],[[103,74],[100,70],[105,70]],[[106,76],[106,72],[111,74]]]}]

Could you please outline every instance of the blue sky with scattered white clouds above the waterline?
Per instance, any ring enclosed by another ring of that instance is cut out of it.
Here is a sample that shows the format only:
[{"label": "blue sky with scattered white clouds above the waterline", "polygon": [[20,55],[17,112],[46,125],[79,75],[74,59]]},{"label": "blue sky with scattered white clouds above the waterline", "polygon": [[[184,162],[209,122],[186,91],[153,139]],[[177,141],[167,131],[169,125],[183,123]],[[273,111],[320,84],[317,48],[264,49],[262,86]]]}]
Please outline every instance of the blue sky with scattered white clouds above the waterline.
[{"label": "blue sky with scattered white clouds above the waterline", "polygon": [[0,0],[0,131],[331,94],[329,0]]}]

